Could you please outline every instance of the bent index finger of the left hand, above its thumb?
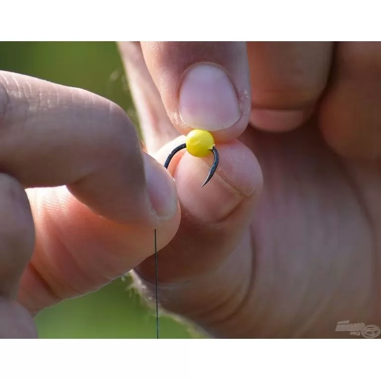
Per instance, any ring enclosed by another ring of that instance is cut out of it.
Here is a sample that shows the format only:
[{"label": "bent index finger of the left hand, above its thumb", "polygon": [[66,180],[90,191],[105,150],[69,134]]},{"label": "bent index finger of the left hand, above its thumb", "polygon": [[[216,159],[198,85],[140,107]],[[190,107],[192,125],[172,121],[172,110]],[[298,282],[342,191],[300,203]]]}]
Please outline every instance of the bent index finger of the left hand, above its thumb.
[{"label": "bent index finger of the left hand, above its thumb", "polygon": [[25,188],[67,185],[94,212],[156,226],[176,212],[173,181],[142,152],[116,104],[0,72],[0,171]]}]

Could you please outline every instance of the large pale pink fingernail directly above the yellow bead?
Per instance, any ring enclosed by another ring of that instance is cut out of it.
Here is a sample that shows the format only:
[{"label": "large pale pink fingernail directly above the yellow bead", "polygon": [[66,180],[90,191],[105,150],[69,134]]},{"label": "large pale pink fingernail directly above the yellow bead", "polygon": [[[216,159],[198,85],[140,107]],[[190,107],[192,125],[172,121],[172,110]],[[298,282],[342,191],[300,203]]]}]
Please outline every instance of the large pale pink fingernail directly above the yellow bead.
[{"label": "large pale pink fingernail directly above the yellow bead", "polygon": [[180,89],[179,114],[191,128],[216,131],[233,126],[241,116],[240,105],[225,71],[210,64],[192,67]]}]

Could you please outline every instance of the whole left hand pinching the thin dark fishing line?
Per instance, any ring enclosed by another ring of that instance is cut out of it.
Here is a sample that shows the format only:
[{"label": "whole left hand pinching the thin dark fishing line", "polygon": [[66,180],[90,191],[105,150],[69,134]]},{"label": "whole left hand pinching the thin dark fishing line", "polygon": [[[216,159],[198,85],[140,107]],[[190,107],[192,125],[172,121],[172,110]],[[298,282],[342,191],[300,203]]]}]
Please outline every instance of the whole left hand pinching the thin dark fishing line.
[{"label": "whole left hand pinching the thin dark fishing line", "polygon": [[161,249],[180,209],[104,98],[1,71],[0,124],[0,337],[36,337],[37,312],[126,273],[153,253],[155,228]]}]

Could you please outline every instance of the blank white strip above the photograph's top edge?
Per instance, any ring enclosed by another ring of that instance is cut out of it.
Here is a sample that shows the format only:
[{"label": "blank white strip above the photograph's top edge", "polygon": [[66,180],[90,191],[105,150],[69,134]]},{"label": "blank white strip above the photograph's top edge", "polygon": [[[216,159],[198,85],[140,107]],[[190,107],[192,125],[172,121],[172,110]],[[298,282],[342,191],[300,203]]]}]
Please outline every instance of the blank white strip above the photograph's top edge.
[{"label": "blank white strip above the photograph's top edge", "polygon": [[1,4],[12,41],[377,41],[377,1],[18,0]]}]

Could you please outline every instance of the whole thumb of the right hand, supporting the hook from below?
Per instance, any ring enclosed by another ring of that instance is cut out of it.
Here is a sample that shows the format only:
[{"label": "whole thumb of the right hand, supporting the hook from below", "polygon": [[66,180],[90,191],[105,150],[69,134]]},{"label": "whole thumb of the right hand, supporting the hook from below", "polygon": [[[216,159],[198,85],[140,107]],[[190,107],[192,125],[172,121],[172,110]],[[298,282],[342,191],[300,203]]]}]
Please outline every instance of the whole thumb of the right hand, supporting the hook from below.
[{"label": "whole thumb of the right hand, supporting the hook from below", "polygon": [[[183,142],[179,137],[155,155],[164,162]],[[169,171],[176,181],[181,223],[175,238],[158,255],[161,285],[193,280],[213,272],[231,254],[248,231],[262,189],[262,173],[253,152],[239,141],[217,144],[220,163],[212,179],[201,189],[213,157],[177,154]],[[160,231],[157,232],[160,240]],[[155,279],[155,259],[147,258],[137,273],[148,282]],[[149,285],[147,286],[149,287]]]}]

